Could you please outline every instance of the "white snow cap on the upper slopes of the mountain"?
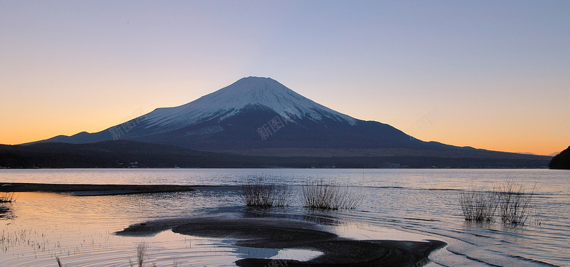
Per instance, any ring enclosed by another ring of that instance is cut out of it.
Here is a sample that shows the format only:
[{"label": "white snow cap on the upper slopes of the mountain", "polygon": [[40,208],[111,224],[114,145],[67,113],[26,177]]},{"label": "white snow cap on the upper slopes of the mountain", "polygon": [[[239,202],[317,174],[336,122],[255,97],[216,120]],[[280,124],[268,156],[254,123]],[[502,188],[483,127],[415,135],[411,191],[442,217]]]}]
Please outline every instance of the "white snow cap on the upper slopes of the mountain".
[{"label": "white snow cap on the upper slopes of the mountain", "polygon": [[355,125],[353,117],[326,108],[271,78],[247,77],[175,108],[158,108],[142,120],[146,127],[185,127],[217,118],[224,120],[252,107],[265,107],[287,120],[319,121],[323,117]]}]

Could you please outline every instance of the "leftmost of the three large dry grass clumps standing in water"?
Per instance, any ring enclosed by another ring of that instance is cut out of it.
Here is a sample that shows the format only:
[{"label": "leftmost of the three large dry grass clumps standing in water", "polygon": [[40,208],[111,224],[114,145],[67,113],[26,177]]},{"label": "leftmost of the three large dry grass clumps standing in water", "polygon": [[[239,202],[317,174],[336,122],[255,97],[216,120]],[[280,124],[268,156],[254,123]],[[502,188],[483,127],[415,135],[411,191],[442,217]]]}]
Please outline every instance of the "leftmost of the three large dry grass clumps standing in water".
[{"label": "leftmost of the three large dry grass clumps standing in water", "polygon": [[271,206],[288,206],[292,198],[286,185],[265,184],[263,177],[256,182],[242,185],[242,200],[247,206],[268,208]]}]

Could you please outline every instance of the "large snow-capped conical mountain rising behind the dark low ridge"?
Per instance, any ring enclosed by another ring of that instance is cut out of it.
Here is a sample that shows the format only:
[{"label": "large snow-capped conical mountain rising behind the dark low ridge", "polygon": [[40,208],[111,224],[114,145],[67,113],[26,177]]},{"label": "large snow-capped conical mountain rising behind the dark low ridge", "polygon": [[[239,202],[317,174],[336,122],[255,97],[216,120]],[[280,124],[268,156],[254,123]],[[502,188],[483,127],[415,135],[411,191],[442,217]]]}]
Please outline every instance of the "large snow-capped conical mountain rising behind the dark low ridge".
[{"label": "large snow-capped conical mountain rising behind the dark low ridge", "polygon": [[242,78],[185,105],[157,108],[101,132],[38,142],[109,140],[271,157],[539,157],[423,142],[390,125],[336,112],[276,80],[259,77]]}]

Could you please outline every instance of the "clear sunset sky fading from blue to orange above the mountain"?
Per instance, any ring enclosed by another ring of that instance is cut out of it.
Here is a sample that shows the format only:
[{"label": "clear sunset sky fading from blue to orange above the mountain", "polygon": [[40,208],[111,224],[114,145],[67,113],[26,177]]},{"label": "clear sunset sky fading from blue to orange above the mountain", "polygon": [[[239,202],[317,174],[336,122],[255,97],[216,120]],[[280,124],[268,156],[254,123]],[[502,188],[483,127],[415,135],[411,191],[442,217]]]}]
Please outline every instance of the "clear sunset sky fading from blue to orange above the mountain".
[{"label": "clear sunset sky fading from blue to orange above the mountain", "polygon": [[570,145],[570,1],[0,0],[0,144],[270,77],[425,141]]}]

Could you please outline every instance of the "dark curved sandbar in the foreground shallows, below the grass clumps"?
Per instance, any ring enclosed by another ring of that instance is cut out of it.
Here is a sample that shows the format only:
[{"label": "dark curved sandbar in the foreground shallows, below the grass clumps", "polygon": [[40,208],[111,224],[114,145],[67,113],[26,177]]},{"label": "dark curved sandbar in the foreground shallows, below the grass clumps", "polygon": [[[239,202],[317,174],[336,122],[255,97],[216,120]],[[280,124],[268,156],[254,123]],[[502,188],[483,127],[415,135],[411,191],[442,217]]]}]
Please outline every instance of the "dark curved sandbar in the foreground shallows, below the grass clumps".
[{"label": "dark curved sandbar in the foreground shallows, below the grass clumps", "polygon": [[188,236],[237,239],[234,246],[251,248],[304,248],[323,255],[309,261],[243,258],[237,266],[424,266],[428,256],[447,244],[443,241],[354,240],[324,231],[318,224],[290,219],[187,218],[147,221],[118,231],[119,236],[152,236],[172,229]]}]

